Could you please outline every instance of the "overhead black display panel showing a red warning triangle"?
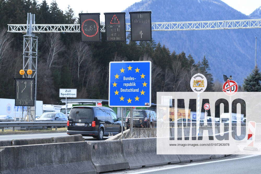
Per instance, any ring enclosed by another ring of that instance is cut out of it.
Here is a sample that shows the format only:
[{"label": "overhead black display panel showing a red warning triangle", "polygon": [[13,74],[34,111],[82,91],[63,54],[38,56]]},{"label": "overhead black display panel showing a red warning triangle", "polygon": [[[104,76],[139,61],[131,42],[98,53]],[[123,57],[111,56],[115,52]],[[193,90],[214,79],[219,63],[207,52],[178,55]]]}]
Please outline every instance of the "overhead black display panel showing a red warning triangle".
[{"label": "overhead black display panel showing a red warning triangle", "polygon": [[125,12],[104,15],[106,41],[126,41]]}]

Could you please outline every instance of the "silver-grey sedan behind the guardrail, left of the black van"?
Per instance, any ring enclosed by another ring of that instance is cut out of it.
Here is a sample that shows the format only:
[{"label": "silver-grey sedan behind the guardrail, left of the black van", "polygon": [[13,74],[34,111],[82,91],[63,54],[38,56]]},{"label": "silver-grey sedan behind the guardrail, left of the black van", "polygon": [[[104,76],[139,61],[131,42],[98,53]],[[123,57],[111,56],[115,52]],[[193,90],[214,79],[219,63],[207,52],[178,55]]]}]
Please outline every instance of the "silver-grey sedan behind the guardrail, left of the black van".
[{"label": "silver-grey sedan behind the guardrail, left of the black van", "polygon": [[44,112],[35,121],[67,121],[67,117],[62,112]]}]

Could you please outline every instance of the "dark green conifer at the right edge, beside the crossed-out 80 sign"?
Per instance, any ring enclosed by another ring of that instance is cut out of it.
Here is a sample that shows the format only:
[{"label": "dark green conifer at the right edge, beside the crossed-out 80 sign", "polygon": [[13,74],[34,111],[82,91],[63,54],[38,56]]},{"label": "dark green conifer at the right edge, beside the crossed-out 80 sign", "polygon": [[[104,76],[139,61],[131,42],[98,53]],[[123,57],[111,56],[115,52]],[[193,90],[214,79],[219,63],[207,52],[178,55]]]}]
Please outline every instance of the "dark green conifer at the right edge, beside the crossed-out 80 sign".
[{"label": "dark green conifer at the right edge, beside the crossed-out 80 sign", "polygon": [[253,69],[252,73],[244,80],[243,88],[247,92],[260,92],[261,91],[261,73],[259,68]]}]

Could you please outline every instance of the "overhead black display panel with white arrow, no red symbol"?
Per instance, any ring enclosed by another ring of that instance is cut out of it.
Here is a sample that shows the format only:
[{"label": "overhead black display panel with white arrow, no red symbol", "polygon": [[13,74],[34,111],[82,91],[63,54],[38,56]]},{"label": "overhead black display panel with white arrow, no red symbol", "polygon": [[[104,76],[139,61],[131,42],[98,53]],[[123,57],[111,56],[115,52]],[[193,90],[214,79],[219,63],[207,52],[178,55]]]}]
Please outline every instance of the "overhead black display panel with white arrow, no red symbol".
[{"label": "overhead black display panel with white arrow, no red symbol", "polygon": [[131,40],[151,41],[151,11],[129,12],[131,16]]}]

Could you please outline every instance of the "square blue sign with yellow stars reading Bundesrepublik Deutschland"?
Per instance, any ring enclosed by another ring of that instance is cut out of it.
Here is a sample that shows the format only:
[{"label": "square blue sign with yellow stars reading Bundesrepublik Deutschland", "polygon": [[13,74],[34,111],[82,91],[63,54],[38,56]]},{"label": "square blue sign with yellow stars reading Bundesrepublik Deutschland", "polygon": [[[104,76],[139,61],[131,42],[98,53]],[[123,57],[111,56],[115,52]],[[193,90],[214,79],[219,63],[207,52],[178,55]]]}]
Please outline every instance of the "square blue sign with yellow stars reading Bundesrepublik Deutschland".
[{"label": "square blue sign with yellow stars reading Bundesrepublik Deutschland", "polygon": [[110,107],[151,106],[151,62],[110,62]]}]

